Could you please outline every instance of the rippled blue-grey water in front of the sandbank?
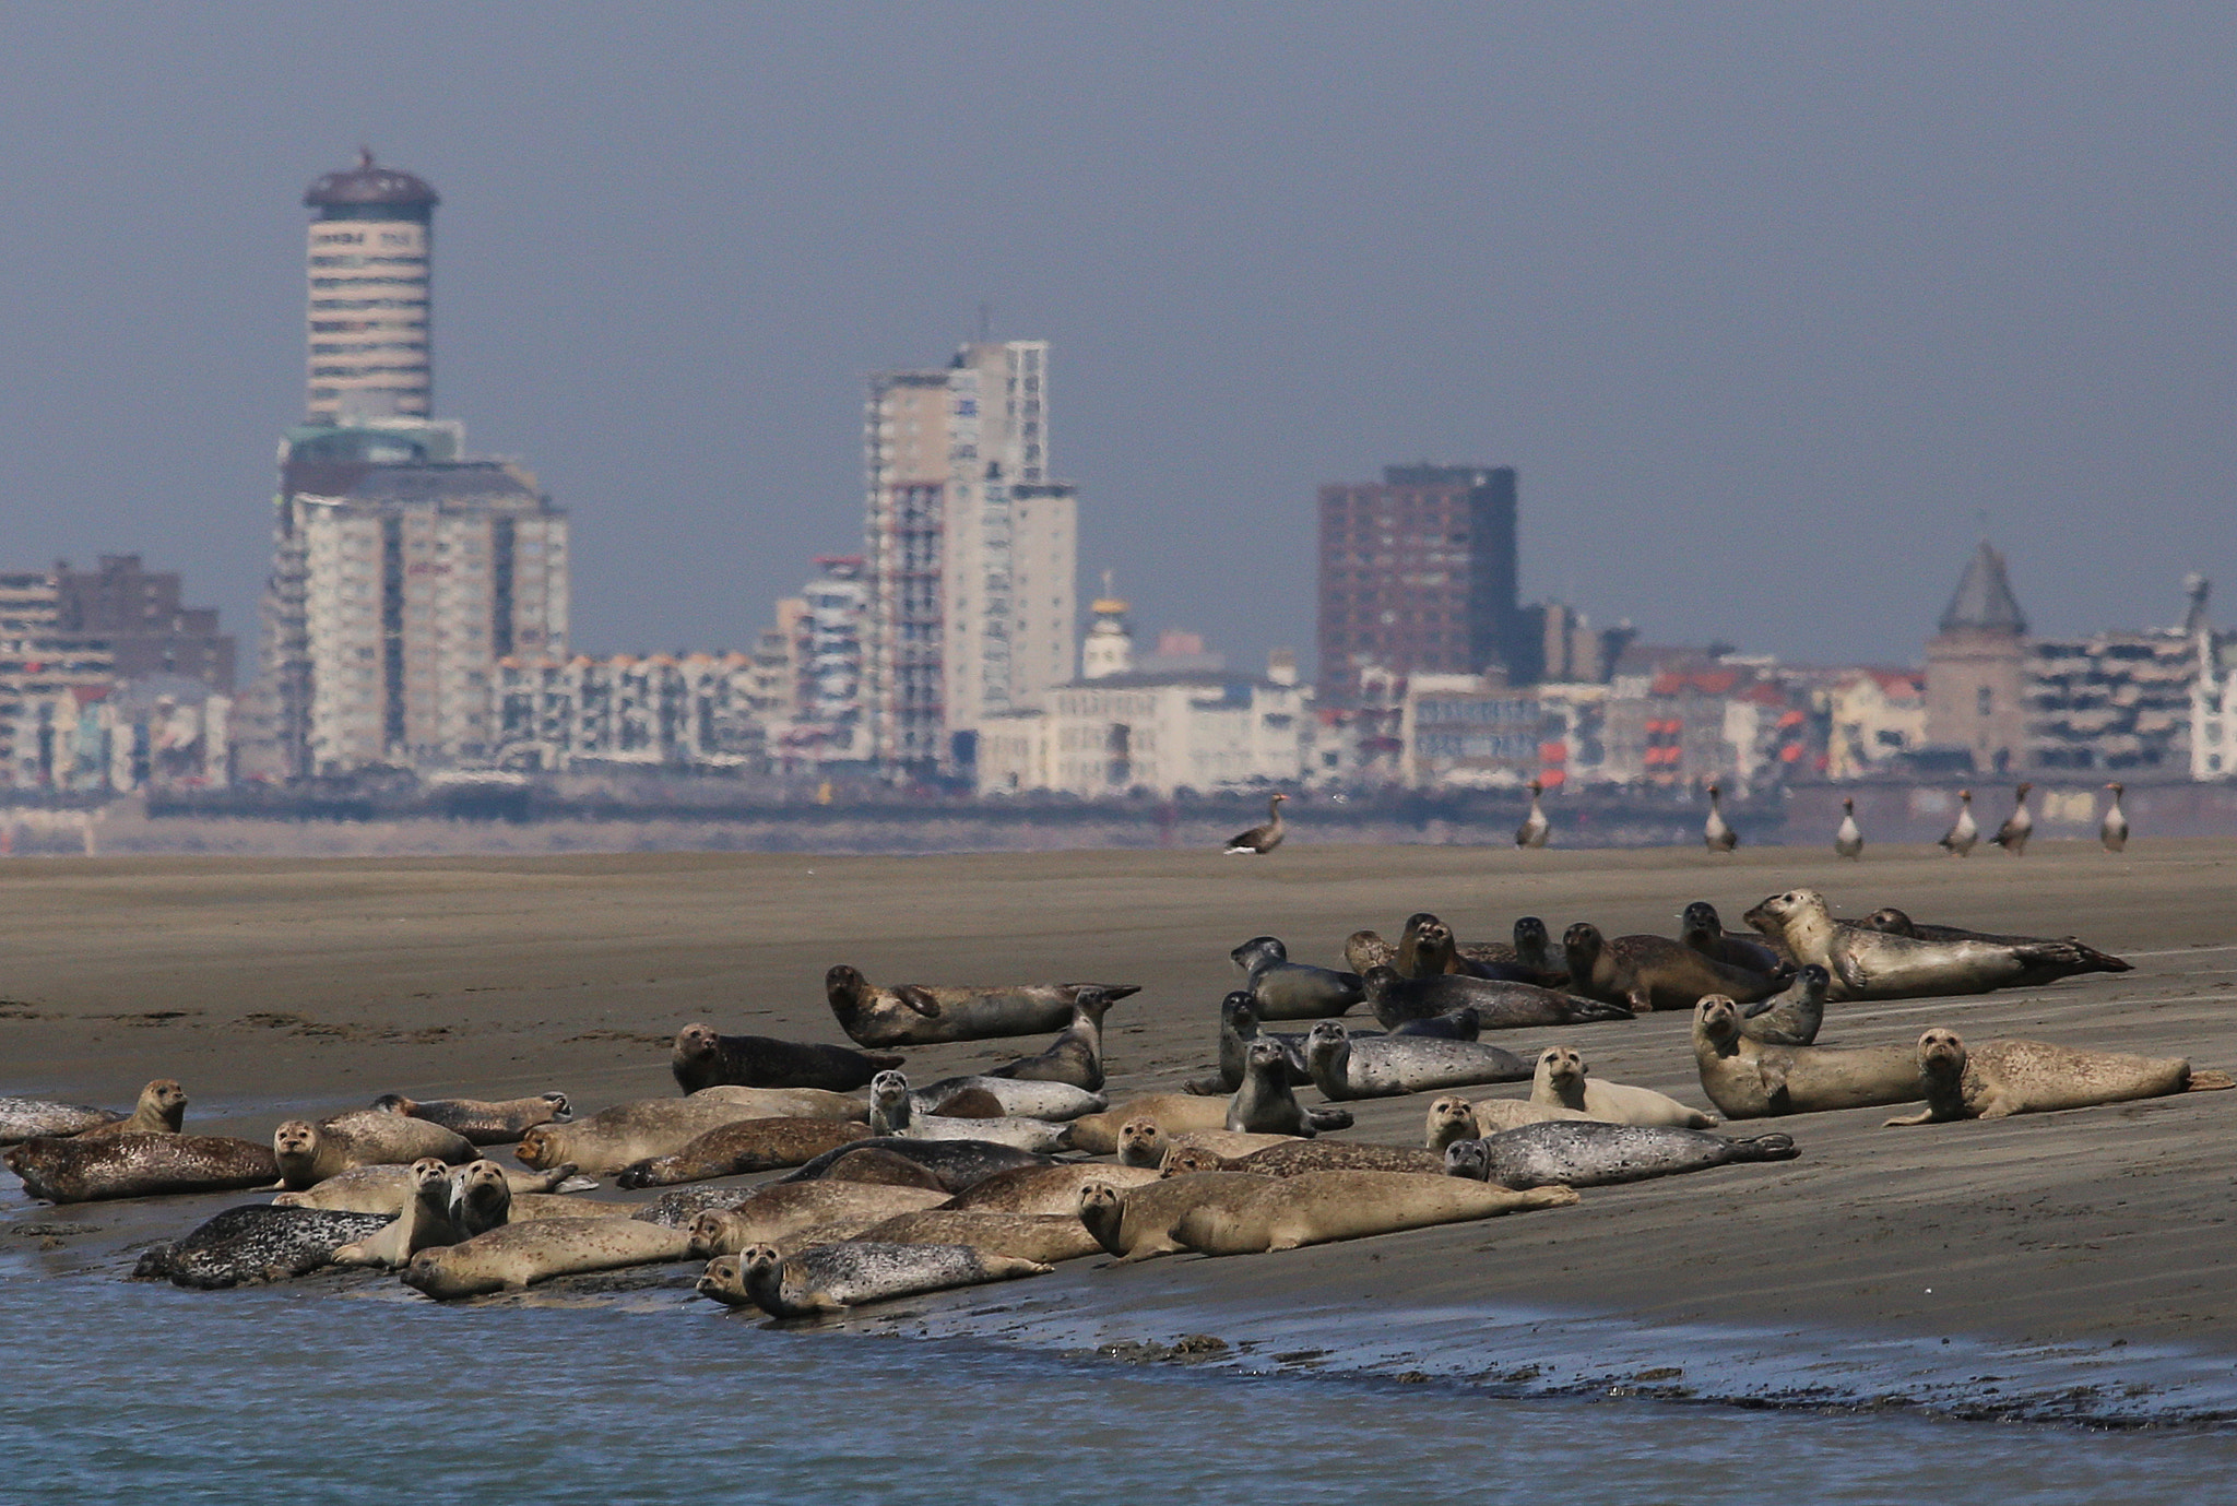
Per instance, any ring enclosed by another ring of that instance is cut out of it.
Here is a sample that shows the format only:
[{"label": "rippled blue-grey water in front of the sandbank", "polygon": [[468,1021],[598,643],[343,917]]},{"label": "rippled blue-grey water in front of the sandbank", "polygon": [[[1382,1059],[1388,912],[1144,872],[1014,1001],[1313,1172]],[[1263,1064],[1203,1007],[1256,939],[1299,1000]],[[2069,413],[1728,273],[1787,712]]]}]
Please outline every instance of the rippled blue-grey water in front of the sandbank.
[{"label": "rippled blue-grey water in front of the sandbank", "polygon": [[[1022,1287],[1004,1287],[1016,1296]],[[1130,1365],[778,1329],[676,1289],[0,1280],[9,1502],[2221,1499],[2237,1439]],[[94,1390],[89,1390],[94,1387]],[[125,1399],[130,1396],[130,1399]],[[1548,1481],[1559,1481],[1550,1488]]]}]

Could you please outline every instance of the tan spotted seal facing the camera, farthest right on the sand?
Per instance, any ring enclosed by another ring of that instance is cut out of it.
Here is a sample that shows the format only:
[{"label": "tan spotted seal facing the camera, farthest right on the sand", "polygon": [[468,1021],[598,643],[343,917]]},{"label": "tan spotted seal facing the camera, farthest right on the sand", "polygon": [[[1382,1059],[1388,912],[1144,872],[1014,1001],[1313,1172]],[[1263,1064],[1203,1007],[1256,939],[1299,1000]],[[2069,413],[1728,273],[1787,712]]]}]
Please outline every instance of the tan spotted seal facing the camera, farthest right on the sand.
[{"label": "tan spotted seal facing the camera, farthest right on the sand", "polygon": [[2049,1041],[1984,1041],[1966,1050],[1955,1029],[1939,1025],[1919,1036],[1919,1076],[1926,1108],[1888,1126],[2049,1114],[2233,1085],[2221,1072],[2194,1074],[2181,1056],[2083,1052]]}]

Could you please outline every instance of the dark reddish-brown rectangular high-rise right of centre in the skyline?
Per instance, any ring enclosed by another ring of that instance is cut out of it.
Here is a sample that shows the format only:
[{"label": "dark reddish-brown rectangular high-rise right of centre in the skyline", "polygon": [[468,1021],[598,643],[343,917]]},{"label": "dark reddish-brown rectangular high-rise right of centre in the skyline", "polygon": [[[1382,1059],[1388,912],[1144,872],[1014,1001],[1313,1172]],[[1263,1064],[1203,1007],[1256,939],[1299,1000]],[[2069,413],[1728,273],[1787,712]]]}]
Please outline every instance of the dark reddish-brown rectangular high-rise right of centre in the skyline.
[{"label": "dark reddish-brown rectangular high-rise right of centre in the skyline", "polygon": [[1387,465],[1382,483],[1320,488],[1320,696],[1358,698],[1362,669],[1539,674],[1517,606],[1512,465]]}]

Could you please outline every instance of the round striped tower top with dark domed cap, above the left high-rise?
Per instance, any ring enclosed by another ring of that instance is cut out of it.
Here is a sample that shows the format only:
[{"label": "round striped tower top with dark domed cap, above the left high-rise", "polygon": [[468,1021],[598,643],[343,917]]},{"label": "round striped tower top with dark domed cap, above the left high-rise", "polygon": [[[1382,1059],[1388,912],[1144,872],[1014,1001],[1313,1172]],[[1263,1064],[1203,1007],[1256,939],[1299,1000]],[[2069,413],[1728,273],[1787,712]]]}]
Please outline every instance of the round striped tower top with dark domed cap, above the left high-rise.
[{"label": "round striped tower top with dark domed cap, above the left high-rise", "polygon": [[356,168],[324,175],[302,201],[315,210],[311,421],[425,418],[434,188],[360,152]]}]

